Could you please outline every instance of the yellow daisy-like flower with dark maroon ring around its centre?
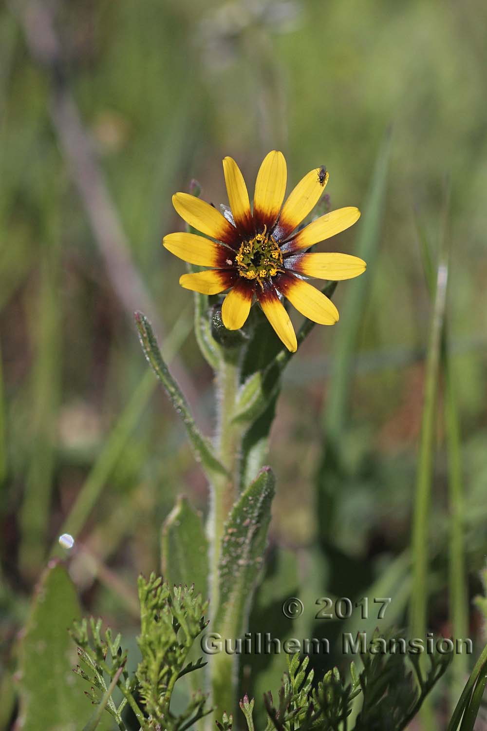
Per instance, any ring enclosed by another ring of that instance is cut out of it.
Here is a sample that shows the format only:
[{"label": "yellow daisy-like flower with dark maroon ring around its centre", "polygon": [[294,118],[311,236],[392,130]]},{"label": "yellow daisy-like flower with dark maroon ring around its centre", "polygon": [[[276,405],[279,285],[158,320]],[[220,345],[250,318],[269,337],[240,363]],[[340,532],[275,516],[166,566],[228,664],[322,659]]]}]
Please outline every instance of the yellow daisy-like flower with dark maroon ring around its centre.
[{"label": "yellow daisy-like flower with dark maroon ring around its centre", "polygon": [[324,167],[304,175],[283,205],[285,159],[281,152],[269,152],[258,171],[253,211],[242,173],[231,157],[223,160],[223,173],[231,208],[224,216],[188,193],[172,197],[181,218],[210,238],[171,233],[164,237],[164,246],[185,262],[212,267],[183,274],[180,285],[204,295],[229,289],[221,310],[229,330],[244,325],[255,296],[277,336],[295,352],[296,333],[280,295],[320,325],[337,322],[337,308],[307,278],[352,279],[364,272],[366,264],[349,254],[308,254],[306,249],[347,229],[358,220],[360,211],[352,206],[339,208],[296,231],[328,182]]}]

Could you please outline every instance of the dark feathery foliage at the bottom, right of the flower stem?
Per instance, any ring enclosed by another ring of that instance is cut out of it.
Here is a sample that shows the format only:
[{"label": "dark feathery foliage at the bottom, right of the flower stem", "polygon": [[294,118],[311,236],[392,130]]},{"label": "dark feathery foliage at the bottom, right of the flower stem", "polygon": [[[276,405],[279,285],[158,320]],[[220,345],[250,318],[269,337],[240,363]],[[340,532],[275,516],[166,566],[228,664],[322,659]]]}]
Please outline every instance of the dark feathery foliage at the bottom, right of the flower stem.
[{"label": "dark feathery foliage at the bottom, right of the flower stem", "polygon": [[[383,651],[401,637],[392,633],[375,635],[369,651],[361,655],[363,670],[350,665],[351,681],[346,683],[339,670],[329,670],[316,685],[313,671],[307,672],[309,657],[288,656],[288,672],[275,703],[269,692],[264,697],[268,716],[265,731],[403,731],[418,713],[426,695],[441,678],[452,655],[428,655],[424,671],[419,654]],[[350,714],[355,704],[355,721]],[[253,700],[240,702],[248,731],[254,731]],[[358,712],[358,708],[360,711]]]}]

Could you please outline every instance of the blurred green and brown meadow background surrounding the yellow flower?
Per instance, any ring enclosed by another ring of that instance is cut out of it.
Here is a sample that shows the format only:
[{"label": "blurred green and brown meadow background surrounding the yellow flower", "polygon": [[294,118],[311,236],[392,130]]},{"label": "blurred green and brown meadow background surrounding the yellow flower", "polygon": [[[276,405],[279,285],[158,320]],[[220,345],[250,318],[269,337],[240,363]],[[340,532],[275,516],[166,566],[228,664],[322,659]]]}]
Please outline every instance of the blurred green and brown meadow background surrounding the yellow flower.
[{"label": "blurred green and brown meadow background surrounding the yellow flower", "polygon": [[[431,314],[418,228],[436,247],[448,176],[448,319],[469,592],[478,593],[487,546],[486,4],[14,0],[0,12],[5,667],[62,531],[84,547],[71,567],[85,609],[130,626],[134,579],[159,566],[175,496],[206,510],[204,479],[146,376],[131,318],[141,308],[153,319],[199,423],[211,428],[212,374],[191,330],[191,295],[177,283],[183,264],[161,246],[182,225],[172,193],[194,176],[206,200],[226,202],[223,156],[252,189],[277,148],[288,189],[326,164],[331,208],[362,208],[388,129],[386,201],[340,441],[348,469],[326,537],[329,583],[315,586],[318,596],[324,586],[358,595],[410,544]],[[356,251],[361,224],[331,250]],[[355,286],[338,287],[340,311]],[[315,473],[343,327],[315,328],[294,357],[272,429],[272,545],[297,556],[300,572],[318,545]],[[437,433],[430,625],[448,632],[441,416]],[[469,624],[478,632],[474,610]]]}]

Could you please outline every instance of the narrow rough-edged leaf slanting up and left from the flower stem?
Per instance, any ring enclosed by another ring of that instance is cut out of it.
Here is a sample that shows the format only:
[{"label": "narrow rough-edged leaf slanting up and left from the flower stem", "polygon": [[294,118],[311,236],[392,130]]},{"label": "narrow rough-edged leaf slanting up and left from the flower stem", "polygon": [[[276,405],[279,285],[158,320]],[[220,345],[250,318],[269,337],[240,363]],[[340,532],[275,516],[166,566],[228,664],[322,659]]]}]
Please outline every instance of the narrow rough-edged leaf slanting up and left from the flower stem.
[{"label": "narrow rough-edged leaf slanting up and left from the flower stem", "polygon": [[166,363],[164,363],[156,336],[147,317],[141,312],[136,312],[135,322],[139,330],[140,344],[145,352],[145,357],[149,361],[150,366],[152,366],[159,381],[164,386],[164,390],[169,396],[172,405],[183,420],[196,460],[202,463],[202,467],[210,475],[227,474],[225,467],[215,456],[210,442],[208,442],[196,426],[188,402],[183,393],[181,393],[177,382],[169,373],[169,368],[166,366]]}]

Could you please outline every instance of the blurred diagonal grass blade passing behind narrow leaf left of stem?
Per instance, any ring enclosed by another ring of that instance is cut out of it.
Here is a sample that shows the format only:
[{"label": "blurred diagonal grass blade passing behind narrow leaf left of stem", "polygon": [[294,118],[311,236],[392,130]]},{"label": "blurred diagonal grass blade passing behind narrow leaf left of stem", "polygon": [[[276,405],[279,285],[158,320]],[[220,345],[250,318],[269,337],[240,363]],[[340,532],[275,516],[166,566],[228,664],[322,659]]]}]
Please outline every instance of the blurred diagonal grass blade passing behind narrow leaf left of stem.
[{"label": "blurred diagonal grass blade passing behind narrow leaf left of stem", "polygon": [[[183,312],[181,317],[177,319],[172,332],[166,341],[166,354],[169,360],[177,353],[180,345],[183,343],[185,338],[191,329],[191,320],[188,318],[186,311]],[[78,493],[77,499],[74,502],[71,512],[63,523],[59,534],[69,533],[74,538],[80,534],[83,529],[85,522],[90,515],[96,502],[99,500],[107,480],[115,468],[120,454],[123,452],[127,442],[130,439],[131,433],[137,426],[137,423],[144,412],[145,407],[150,401],[151,396],[157,387],[157,381],[154,379],[153,374],[150,371],[144,374],[139,382],[136,390],[134,391],[129,403],[123,410],[122,414],[115,424],[115,427],[107,439],[107,443],[103,450],[101,450],[98,459],[93,465],[93,469],[88,474],[83,487]],[[51,548],[51,555],[60,555],[61,548],[59,547],[57,539],[53,543]]]}]

